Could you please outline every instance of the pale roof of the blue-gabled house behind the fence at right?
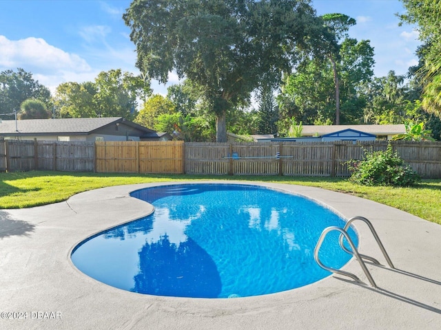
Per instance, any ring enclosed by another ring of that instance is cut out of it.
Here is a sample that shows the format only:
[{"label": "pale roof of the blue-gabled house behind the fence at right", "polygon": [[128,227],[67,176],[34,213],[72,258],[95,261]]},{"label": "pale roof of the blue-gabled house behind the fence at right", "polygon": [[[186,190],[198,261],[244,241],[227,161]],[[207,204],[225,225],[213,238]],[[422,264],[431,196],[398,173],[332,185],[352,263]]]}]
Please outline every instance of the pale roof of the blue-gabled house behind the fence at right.
[{"label": "pale roof of the blue-gabled house behind the fence at right", "polygon": [[327,135],[338,131],[345,131],[352,129],[354,131],[361,131],[373,135],[395,135],[406,133],[404,124],[391,125],[303,125],[302,135]]}]

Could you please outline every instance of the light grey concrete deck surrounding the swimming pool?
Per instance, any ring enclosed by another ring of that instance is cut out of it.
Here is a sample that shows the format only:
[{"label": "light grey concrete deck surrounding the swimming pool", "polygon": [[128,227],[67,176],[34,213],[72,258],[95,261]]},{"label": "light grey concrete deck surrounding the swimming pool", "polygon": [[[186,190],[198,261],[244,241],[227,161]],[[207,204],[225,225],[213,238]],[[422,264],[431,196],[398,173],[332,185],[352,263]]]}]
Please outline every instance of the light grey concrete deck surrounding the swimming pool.
[{"label": "light grey concrete deck surrounding the swimming pool", "polygon": [[[152,212],[129,193],[156,185],[101,188],[49,206],[0,210],[0,329],[440,329],[441,225],[319,188],[263,184],[316,199],[347,219],[369,219],[397,268],[367,263],[378,289],[333,275],[265,296],[172,298],[126,292],[76,270],[72,248]],[[387,265],[367,225],[354,225],[360,253]],[[343,270],[369,283],[355,259]]]}]

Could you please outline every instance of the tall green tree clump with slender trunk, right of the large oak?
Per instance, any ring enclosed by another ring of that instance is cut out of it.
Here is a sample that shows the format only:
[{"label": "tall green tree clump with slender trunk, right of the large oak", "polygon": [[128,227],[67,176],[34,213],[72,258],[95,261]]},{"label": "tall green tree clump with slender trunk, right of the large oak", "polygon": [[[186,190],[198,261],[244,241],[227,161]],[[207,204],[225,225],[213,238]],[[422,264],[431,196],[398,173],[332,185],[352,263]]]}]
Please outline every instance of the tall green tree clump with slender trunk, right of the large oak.
[{"label": "tall green tree clump with slender trunk, right of the large oak", "polygon": [[322,45],[326,61],[307,56],[294,74],[284,77],[277,99],[281,120],[294,115],[305,124],[361,121],[366,96],[360,88],[373,76],[373,47],[369,41],[349,38],[337,43],[349,29],[345,22],[354,23],[342,14],[325,21],[329,32],[338,33],[334,44]]}]

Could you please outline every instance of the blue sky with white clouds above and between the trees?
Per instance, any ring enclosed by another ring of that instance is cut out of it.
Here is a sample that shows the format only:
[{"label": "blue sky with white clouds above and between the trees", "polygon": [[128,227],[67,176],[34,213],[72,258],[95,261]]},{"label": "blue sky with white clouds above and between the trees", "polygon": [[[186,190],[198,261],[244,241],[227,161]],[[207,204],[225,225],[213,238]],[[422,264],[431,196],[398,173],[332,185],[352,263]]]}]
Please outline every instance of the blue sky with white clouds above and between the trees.
[{"label": "blue sky with white clouds above and between the trees", "polygon": [[[93,81],[102,71],[138,74],[130,30],[122,15],[130,0],[0,0],[0,72],[21,67],[51,91],[67,81]],[[376,76],[405,74],[417,63],[418,32],[398,26],[399,0],[313,0],[317,13],[357,20],[349,34],[369,39]],[[176,83],[170,74],[170,83]],[[152,83],[156,93],[166,89]]]}]

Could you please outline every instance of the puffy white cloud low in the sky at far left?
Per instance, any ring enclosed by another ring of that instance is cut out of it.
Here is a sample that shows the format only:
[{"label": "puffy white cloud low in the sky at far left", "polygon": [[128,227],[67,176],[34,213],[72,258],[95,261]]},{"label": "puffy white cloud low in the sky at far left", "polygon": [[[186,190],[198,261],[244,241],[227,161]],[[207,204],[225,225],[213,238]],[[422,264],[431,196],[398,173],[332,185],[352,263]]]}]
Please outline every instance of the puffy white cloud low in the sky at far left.
[{"label": "puffy white cloud low in the sky at far left", "polygon": [[90,66],[83,58],[49,45],[41,38],[12,41],[0,36],[0,49],[0,67],[35,67],[43,72],[57,72],[60,69],[90,71]]}]

